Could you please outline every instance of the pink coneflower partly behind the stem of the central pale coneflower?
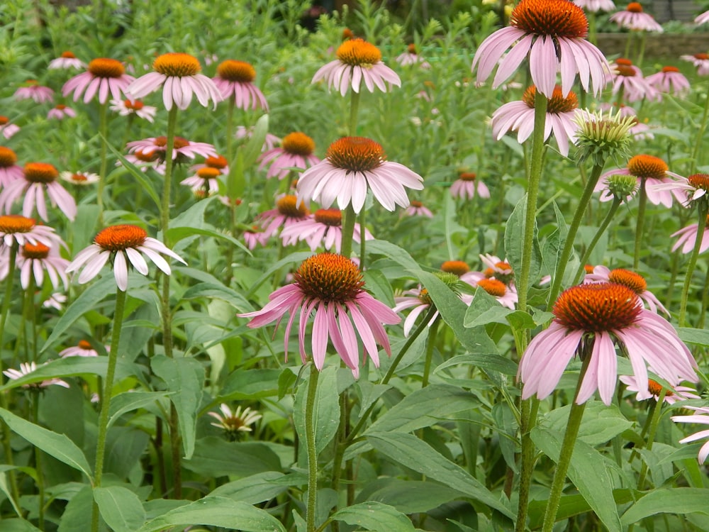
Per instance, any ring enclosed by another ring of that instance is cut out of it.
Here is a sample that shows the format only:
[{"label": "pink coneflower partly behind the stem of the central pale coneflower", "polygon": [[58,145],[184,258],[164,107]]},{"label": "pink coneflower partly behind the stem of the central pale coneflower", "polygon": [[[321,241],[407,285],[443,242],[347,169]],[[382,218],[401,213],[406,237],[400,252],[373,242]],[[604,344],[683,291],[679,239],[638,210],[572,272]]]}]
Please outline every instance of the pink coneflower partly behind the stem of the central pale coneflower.
[{"label": "pink coneflower partly behind the stem of the central pale coneflower", "polygon": [[[364,228],[364,239],[373,240],[374,236],[369,229]],[[340,253],[342,249],[342,211],[340,209],[318,209],[315,214],[306,217],[303,221],[284,227],[281,230],[283,245],[294,245],[299,240],[304,240],[311,251],[322,247],[325,250],[335,250]],[[354,224],[352,234],[354,242],[362,241],[362,226]]]}]

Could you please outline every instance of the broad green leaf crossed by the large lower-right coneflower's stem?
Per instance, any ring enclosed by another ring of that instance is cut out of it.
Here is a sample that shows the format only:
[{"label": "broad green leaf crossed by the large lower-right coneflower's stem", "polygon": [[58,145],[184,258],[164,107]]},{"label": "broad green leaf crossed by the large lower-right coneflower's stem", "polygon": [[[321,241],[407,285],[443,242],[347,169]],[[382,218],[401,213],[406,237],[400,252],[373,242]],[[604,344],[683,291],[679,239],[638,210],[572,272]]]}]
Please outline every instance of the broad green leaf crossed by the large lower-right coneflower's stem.
[{"label": "broad green leaf crossed by the large lower-right coneflower's stem", "polygon": [[[536,426],[532,429],[532,441],[542,453],[557,461],[562,447],[563,433]],[[566,474],[579,493],[596,513],[598,519],[610,532],[620,532],[618,507],[613,499],[613,475],[620,470],[615,462],[608,460],[596,449],[582,440],[576,440]]]}]

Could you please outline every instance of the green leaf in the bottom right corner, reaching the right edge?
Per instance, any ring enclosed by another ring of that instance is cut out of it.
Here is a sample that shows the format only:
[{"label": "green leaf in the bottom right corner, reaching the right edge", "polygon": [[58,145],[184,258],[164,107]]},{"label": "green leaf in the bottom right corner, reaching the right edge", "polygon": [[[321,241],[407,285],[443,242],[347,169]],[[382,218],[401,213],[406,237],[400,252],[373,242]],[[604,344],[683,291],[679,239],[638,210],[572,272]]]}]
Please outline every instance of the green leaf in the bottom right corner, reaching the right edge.
[{"label": "green leaf in the bottom right corner, reaching the right edge", "polygon": [[657,514],[709,514],[707,490],[703,488],[671,487],[654,489],[625,511],[620,523],[632,523]]}]

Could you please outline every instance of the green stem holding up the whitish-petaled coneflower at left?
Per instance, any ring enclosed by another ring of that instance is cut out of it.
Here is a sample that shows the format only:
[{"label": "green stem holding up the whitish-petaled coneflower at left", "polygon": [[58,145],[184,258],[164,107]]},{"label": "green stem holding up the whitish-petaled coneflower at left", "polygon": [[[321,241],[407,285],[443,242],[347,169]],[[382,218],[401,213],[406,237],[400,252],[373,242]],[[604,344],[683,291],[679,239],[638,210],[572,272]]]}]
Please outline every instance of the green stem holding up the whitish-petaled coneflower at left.
[{"label": "green stem holding up the whitish-petaled coneflower at left", "polygon": [[[118,362],[118,343],[121,341],[121,326],[125,310],[125,292],[116,290],[116,311],[113,314],[113,331],[111,331],[111,350],[108,351],[108,367],[104,379],[104,391],[101,394],[101,411],[99,412],[99,436],[96,438],[96,464],[94,465],[94,488],[101,487],[104,476],[104,455],[106,454],[106,434],[108,433],[108,409],[111,407],[113,379],[116,376]],[[99,530],[99,505],[94,501],[91,511],[91,532]]]}]

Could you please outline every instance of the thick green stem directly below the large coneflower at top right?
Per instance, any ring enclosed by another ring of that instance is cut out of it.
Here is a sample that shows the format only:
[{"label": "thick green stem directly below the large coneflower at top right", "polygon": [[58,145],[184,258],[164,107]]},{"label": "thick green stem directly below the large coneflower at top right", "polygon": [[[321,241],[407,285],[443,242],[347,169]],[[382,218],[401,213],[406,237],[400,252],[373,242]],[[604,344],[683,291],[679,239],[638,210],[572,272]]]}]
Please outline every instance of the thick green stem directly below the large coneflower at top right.
[{"label": "thick green stem directly below the large coneflower at top right", "polygon": [[[534,133],[532,133],[532,155],[530,157],[530,177],[527,184],[527,211],[523,228],[522,271],[517,278],[518,309],[527,311],[527,292],[530,284],[530,269],[532,267],[532,247],[534,245],[534,225],[537,214],[537,196],[542,177],[542,160],[544,158],[544,126],[547,113],[547,97],[539,91],[534,99]],[[515,272],[516,274],[516,272]],[[524,345],[526,348],[526,345]]]}]

